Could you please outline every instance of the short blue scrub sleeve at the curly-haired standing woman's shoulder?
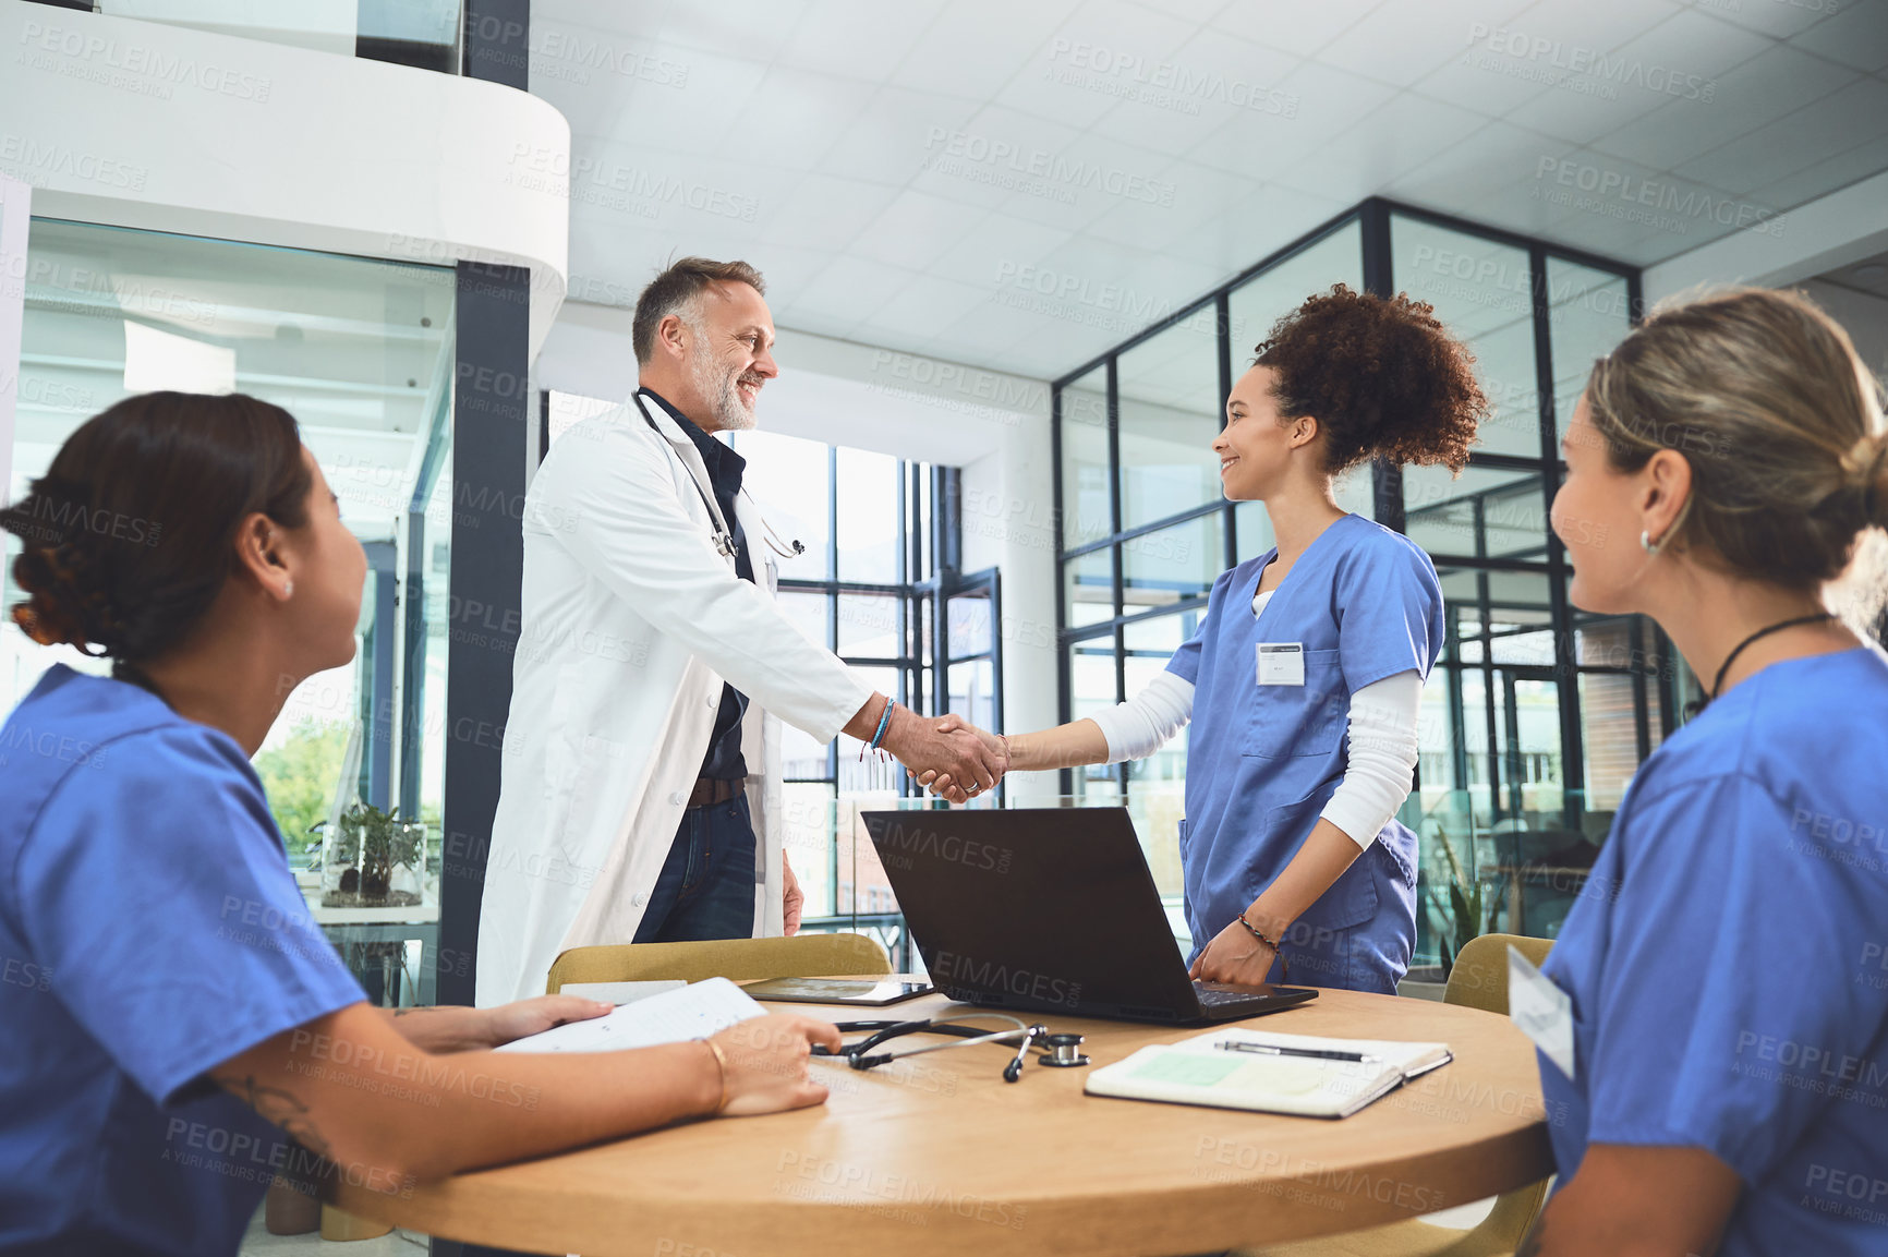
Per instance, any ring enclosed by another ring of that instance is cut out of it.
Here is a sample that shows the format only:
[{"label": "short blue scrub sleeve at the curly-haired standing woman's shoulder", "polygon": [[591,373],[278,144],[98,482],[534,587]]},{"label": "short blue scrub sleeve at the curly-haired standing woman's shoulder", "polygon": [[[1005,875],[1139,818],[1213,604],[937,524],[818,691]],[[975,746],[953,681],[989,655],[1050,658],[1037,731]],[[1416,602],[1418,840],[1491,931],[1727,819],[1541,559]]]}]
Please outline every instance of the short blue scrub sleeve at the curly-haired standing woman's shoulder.
[{"label": "short blue scrub sleeve at the curly-haired standing woman's shoulder", "polygon": [[1427,678],[1442,649],[1442,585],[1435,564],[1401,536],[1386,534],[1382,544],[1344,557],[1333,612],[1337,659],[1352,695],[1399,672]]}]

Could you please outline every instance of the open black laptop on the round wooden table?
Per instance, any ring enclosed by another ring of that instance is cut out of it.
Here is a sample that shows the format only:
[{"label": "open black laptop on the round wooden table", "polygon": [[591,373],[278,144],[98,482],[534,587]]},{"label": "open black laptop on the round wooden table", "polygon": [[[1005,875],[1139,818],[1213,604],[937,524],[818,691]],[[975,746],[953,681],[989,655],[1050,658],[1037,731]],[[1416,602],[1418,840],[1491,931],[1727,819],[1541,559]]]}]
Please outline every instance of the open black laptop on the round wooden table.
[{"label": "open black laptop on the round wooden table", "polygon": [[1127,808],[861,812],[953,1000],[1118,1021],[1237,1021],[1305,987],[1193,981]]}]

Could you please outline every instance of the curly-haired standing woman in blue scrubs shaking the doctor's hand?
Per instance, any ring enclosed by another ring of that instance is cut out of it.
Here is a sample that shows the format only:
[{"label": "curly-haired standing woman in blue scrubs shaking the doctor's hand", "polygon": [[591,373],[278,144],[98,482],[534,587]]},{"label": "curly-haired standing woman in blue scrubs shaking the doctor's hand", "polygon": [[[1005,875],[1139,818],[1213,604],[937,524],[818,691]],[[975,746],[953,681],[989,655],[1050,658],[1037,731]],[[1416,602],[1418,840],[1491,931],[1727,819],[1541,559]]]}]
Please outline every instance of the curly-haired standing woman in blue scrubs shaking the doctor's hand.
[{"label": "curly-haired standing woman in blue scrubs shaking the doctor's hand", "polygon": [[1265,502],[1278,545],[1214,581],[1142,693],[1008,738],[1010,768],[1140,759],[1191,719],[1193,976],[1395,993],[1416,944],[1416,834],[1395,812],[1442,589],[1416,544],[1339,510],[1333,481],[1367,459],[1461,470],[1488,402],[1469,351],[1407,296],[1337,285],[1256,353],[1212,451],[1225,496]]}]

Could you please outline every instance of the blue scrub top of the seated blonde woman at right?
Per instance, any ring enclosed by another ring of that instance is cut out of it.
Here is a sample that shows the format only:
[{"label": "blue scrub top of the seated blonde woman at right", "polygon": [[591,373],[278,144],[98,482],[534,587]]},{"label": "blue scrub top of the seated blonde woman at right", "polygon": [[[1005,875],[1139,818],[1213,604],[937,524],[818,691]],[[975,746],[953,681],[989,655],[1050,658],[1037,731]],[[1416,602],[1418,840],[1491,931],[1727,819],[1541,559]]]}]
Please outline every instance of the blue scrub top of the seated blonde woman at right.
[{"label": "blue scrub top of the seated blonde woman at right", "polygon": [[1542,972],[1559,1185],[1588,1144],[1743,1180],[1724,1257],[1888,1253],[1888,657],[1775,662],[1639,768]]}]

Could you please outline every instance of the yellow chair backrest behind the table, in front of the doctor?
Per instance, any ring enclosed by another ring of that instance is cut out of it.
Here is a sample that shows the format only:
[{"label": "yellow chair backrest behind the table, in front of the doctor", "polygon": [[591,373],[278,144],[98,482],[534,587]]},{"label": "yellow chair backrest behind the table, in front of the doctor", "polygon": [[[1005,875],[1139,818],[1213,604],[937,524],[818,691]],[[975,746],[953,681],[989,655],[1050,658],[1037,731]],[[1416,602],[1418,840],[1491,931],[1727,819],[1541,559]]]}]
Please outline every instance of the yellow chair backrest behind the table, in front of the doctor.
[{"label": "yellow chair backrest behind the table, in front of the doctor", "polygon": [[793,938],[710,938],[680,944],[572,947],[551,963],[546,993],[566,981],[659,981],[680,978],[825,978],[889,974],[891,957],[865,934],[795,934]]}]

